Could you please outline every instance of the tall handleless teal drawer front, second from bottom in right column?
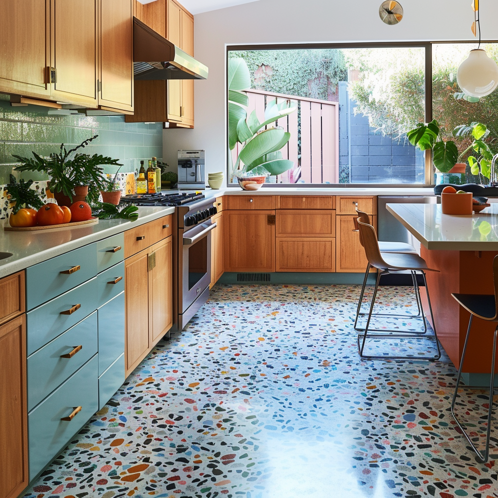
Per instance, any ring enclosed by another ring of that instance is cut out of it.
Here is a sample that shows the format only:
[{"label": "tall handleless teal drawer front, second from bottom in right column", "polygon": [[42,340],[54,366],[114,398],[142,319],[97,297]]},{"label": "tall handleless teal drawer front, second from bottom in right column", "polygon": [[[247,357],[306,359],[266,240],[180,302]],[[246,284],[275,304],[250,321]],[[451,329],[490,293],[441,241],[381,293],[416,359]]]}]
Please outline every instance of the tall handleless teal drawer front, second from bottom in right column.
[{"label": "tall handleless teal drawer front, second from bottom in right column", "polygon": [[99,314],[99,375],[124,353],[124,291],[97,311]]}]

